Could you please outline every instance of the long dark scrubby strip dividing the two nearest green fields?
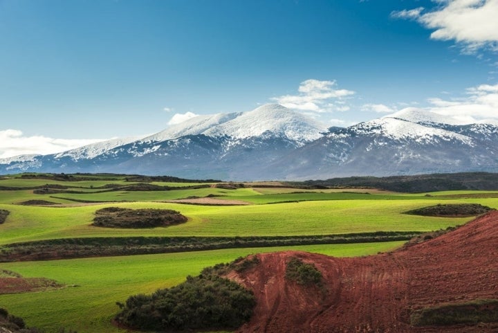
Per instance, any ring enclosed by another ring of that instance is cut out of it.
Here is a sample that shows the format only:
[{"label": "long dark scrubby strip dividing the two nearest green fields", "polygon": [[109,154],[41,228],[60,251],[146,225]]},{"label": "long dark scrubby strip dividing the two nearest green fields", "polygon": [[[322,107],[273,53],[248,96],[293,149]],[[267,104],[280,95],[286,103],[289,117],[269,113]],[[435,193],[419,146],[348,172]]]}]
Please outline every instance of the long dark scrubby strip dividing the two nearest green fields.
[{"label": "long dark scrubby strip dividing the two nearest green fields", "polygon": [[12,243],[0,247],[0,262],[176,253],[248,247],[358,244],[411,240],[418,231],[342,235],[249,237],[80,237]]}]

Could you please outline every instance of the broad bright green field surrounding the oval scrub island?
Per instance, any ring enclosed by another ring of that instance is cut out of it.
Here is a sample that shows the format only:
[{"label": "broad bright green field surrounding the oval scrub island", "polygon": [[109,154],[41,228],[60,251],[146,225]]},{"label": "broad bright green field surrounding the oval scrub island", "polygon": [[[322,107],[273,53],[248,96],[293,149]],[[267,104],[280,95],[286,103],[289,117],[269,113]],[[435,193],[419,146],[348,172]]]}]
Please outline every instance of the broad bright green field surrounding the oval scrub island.
[{"label": "broad bright green field surrounding the oval scrub island", "polygon": [[[481,203],[498,208],[497,199],[328,200],[252,206],[195,206],[155,202],[77,207],[0,204],[10,210],[0,244],[66,237],[324,235],[374,231],[432,231],[463,224],[464,218],[420,217],[403,212],[438,203]],[[95,210],[106,206],[168,208],[189,218],[168,228],[115,229],[91,226]]]}]

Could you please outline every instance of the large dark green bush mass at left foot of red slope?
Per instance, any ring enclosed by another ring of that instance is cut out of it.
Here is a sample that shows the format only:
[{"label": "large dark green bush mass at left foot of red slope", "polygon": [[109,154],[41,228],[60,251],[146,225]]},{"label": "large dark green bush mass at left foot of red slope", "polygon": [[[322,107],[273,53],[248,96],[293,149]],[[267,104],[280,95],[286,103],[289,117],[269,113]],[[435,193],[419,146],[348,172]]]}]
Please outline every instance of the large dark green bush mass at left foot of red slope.
[{"label": "large dark green bush mass at left foot of red slope", "polygon": [[116,316],[118,323],[139,330],[232,330],[248,321],[255,296],[241,285],[219,276],[228,265],[204,269],[181,285],[128,298]]}]

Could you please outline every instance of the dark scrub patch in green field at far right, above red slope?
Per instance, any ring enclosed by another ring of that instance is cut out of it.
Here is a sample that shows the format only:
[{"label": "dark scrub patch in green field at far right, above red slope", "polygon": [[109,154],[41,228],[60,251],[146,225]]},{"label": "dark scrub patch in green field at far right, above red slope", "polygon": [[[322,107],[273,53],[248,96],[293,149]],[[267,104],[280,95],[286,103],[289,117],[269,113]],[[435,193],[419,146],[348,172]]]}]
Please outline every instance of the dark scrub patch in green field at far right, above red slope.
[{"label": "dark scrub patch in green field at far right, above red slope", "polygon": [[494,209],[480,204],[438,204],[436,206],[408,210],[405,214],[441,217],[468,217],[488,213],[490,210]]}]

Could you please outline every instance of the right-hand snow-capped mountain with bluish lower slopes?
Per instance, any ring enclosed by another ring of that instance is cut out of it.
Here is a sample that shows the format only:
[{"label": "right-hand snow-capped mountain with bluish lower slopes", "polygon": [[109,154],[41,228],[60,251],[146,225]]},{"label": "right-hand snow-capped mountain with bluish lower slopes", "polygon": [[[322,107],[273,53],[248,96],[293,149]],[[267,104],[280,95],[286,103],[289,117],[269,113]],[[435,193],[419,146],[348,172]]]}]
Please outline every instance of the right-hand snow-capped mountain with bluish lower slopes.
[{"label": "right-hand snow-capped mountain with bluish lower slopes", "polygon": [[396,115],[334,129],[269,168],[285,168],[279,179],[498,172],[498,127],[411,119]]}]

